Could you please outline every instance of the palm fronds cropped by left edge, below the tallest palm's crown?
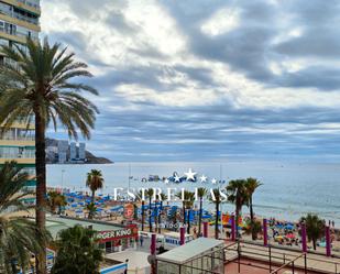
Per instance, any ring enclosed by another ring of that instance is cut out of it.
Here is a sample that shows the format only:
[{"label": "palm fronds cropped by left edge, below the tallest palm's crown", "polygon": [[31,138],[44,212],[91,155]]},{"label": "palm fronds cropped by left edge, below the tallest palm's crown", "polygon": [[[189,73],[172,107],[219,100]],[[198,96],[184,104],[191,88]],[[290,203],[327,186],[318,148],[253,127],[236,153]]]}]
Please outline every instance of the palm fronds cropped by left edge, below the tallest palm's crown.
[{"label": "palm fronds cropped by left edge, below the tallest palm's crown", "polygon": [[37,229],[30,219],[13,217],[28,210],[22,204],[22,198],[29,195],[24,190],[28,178],[15,162],[7,162],[0,169],[0,272],[3,274],[28,270],[31,255],[42,252],[51,240],[50,233]]}]

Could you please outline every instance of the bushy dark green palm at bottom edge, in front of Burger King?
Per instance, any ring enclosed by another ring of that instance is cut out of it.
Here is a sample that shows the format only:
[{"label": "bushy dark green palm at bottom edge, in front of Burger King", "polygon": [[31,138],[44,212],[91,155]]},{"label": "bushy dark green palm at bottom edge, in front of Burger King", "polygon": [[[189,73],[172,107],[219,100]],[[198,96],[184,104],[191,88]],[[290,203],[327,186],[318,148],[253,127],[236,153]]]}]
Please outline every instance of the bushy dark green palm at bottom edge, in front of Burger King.
[{"label": "bushy dark green palm at bottom edge, in front of Burger King", "polygon": [[95,231],[77,224],[58,234],[57,255],[52,274],[99,274],[102,251],[96,242]]}]

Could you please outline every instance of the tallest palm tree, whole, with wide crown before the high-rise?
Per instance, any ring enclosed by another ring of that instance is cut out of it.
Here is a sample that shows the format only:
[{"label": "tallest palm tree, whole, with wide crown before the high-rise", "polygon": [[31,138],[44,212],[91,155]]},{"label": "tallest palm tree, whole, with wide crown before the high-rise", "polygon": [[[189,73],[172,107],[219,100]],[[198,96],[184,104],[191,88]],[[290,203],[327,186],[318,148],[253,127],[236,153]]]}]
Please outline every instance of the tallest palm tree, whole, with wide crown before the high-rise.
[{"label": "tallest palm tree, whole, with wide crown before the high-rise", "polygon": [[[76,62],[73,53],[28,40],[26,50],[17,45],[2,46],[1,53],[11,62],[0,66],[0,124],[2,132],[14,122],[35,123],[36,224],[44,229],[46,221],[46,156],[45,133],[52,122],[63,125],[69,138],[90,138],[98,109],[80,95],[97,90],[76,83],[75,78],[91,77],[85,63]],[[46,273],[46,254],[39,256],[37,274]]]}]

